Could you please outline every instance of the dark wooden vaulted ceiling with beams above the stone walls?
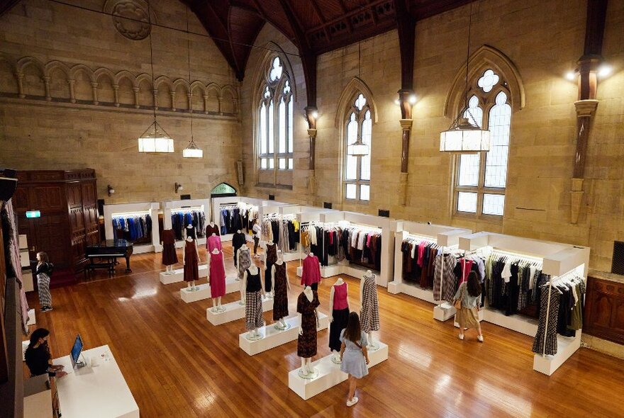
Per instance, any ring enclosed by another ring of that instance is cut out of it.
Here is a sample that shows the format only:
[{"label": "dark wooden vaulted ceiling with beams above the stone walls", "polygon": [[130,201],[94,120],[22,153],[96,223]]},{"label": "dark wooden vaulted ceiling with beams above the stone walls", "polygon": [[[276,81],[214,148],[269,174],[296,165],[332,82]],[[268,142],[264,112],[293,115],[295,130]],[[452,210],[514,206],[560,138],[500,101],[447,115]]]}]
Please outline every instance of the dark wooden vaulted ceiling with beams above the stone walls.
[{"label": "dark wooden vaulted ceiling with beams above the stone walls", "polygon": [[[269,22],[315,57],[397,27],[402,11],[418,21],[471,0],[182,0],[199,17],[238,79],[251,45]],[[399,10],[399,15],[396,11]]]}]

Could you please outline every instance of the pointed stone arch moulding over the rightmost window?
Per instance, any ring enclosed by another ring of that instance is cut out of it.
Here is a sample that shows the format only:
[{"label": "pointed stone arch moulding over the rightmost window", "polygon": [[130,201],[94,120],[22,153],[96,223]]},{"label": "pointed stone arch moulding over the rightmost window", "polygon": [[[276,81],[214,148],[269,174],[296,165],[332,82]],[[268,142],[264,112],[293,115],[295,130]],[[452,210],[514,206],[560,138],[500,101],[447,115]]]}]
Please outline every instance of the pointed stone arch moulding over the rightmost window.
[{"label": "pointed stone arch moulding over the rightmost window", "polygon": [[[525,106],[525,91],[522,77],[515,64],[503,52],[489,45],[482,45],[468,60],[468,79],[472,80],[484,70],[491,68],[507,82],[513,111],[519,111]],[[455,119],[459,110],[464,106],[466,97],[466,65],[462,65],[455,74],[444,103],[444,115]]]}]

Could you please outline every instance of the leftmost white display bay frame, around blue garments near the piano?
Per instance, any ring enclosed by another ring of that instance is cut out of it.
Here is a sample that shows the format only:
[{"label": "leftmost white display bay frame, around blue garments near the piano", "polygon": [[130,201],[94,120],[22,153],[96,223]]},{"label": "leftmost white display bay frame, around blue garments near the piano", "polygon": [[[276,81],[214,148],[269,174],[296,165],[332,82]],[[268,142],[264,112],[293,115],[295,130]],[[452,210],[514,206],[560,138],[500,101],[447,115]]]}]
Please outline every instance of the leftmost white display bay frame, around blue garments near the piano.
[{"label": "leftmost white display bay frame, around blue garments near the piano", "polygon": [[145,252],[161,252],[160,235],[158,233],[158,210],[160,203],[139,202],[139,203],[118,203],[115,205],[104,205],[104,235],[106,239],[114,239],[113,217],[131,215],[150,215],[152,219],[151,241],[147,244],[133,245],[133,253],[141,254]]}]

